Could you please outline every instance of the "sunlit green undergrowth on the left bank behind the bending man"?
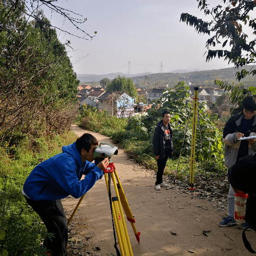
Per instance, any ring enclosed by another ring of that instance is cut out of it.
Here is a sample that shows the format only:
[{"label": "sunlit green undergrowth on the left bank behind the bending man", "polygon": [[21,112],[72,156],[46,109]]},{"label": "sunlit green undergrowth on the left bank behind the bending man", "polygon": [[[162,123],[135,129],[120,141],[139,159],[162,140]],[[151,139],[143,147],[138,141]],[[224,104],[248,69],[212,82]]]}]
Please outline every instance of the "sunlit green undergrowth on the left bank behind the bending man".
[{"label": "sunlit green undergrowth on the left bank behind the bending man", "polygon": [[[51,138],[23,138],[17,144],[0,147],[0,255],[43,256],[43,237],[51,236],[40,217],[22,195],[26,177],[35,165],[60,153],[62,146],[77,139],[68,132]],[[12,154],[8,154],[12,151]]]}]

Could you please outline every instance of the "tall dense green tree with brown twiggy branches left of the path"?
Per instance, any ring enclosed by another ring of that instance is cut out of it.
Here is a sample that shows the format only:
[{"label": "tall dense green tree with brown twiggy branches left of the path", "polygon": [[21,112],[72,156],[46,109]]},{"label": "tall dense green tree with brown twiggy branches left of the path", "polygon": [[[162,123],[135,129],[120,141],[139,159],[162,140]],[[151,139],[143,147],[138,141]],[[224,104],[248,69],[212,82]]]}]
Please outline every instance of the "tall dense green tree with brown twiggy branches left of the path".
[{"label": "tall dense green tree with brown twiggy branches left of the path", "polygon": [[[12,2],[4,4],[0,2],[0,9],[11,14],[8,22],[6,15],[0,15],[0,23],[5,23],[0,31],[0,141],[17,131],[62,132],[74,118],[79,83],[65,46],[49,25],[27,22],[23,6],[13,9]],[[65,114],[59,116],[57,111]]]}]

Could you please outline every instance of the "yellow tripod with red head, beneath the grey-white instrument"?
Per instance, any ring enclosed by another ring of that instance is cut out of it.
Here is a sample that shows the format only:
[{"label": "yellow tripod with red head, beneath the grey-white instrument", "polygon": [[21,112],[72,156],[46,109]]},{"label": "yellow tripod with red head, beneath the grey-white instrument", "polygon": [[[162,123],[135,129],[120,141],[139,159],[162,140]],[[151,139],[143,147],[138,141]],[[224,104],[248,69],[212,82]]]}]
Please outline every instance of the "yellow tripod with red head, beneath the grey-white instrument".
[{"label": "yellow tripod with red head, beneath the grey-white instrument", "polygon": [[[128,205],[127,198],[125,196],[123,187],[120,183],[114,163],[109,163],[108,167],[104,171],[107,191],[111,197],[110,180],[112,179],[116,192],[116,197],[111,198],[112,216],[114,219],[116,234],[119,242],[119,247],[122,256],[133,256],[131,244],[129,240],[128,231],[126,228],[126,222],[123,214],[122,207],[125,211],[128,221],[130,221],[133,231],[135,233],[137,241],[140,243],[140,232],[137,232],[135,227],[135,220],[130,207]],[[116,183],[117,181],[117,183]]]}]

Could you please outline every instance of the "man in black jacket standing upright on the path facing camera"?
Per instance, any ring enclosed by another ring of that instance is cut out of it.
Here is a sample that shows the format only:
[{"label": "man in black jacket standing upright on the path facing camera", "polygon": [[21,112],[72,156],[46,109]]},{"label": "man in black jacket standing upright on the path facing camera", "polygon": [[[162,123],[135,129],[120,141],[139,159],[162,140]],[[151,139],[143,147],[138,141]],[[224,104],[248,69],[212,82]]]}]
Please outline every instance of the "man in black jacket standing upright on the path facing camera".
[{"label": "man in black jacket standing upright on the path facing camera", "polygon": [[162,113],[162,120],[156,124],[154,137],[153,137],[153,151],[157,161],[157,175],[155,188],[161,190],[161,186],[167,187],[163,183],[163,170],[165,168],[168,156],[173,155],[173,141],[172,129],[170,127],[171,114],[170,111],[164,110]]}]

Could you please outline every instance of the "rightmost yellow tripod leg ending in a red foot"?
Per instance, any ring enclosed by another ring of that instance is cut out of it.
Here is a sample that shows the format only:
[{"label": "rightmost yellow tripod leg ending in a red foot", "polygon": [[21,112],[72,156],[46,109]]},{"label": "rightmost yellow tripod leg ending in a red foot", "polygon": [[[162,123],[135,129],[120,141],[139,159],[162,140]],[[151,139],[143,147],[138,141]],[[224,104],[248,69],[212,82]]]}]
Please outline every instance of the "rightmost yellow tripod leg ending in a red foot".
[{"label": "rightmost yellow tripod leg ending in a red foot", "polygon": [[119,198],[120,198],[122,206],[124,208],[126,217],[127,217],[128,221],[130,221],[130,223],[131,223],[132,229],[134,231],[134,234],[136,236],[136,239],[137,239],[138,243],[140,243],[140,232],[137,232],[137,230],[136,230],[136,227],[135,227],[135,224],[134,224],[135,223],[134,216],[132,215],[131,209],[128,205],[128,201],[127,201],[127,198],[125,196],[125,192],[124,192],[123,187],[121,185],[121,182],[118,178],[116,170],[114,170],[114,174],[116,176],[116,180],[117,180],[117,183],[118,183],[117,184],[117,189],[118,189],[118,193],[119,193]]}]

